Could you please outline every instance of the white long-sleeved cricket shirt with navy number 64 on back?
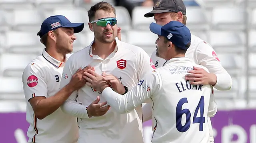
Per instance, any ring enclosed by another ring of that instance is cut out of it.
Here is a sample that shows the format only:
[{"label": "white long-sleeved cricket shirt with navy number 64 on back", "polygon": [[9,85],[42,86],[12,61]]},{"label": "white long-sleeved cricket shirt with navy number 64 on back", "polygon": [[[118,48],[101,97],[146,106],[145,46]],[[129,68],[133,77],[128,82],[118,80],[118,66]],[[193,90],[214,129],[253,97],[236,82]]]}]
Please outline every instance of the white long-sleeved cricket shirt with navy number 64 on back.
[{"label": "white long-sleeved cricket shirt with navy number 64 on back", "polygon": [[102,96],[120,114],[132,111],[152,100],[152,143],[209,143],[208,110],[210,85],[191,85],[184,76],[196,65],[186,57],[173,58],[152,73],[146,74],[127,94],[121,96],[106,88]]}]

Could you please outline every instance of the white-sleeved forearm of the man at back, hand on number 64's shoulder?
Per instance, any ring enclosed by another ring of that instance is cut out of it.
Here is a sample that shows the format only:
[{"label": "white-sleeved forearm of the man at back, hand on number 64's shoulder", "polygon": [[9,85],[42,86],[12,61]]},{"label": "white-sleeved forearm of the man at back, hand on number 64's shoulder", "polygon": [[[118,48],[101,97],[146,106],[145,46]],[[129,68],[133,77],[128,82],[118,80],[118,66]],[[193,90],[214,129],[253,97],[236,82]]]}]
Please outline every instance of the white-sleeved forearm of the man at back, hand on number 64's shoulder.
[{"label": "white-sleeved forearm of the man at back, hand on number 64's shoulder", "polygon": [[221,74],[216,74],[217,81],[216,84],[214,85],[214,88],[218,90],[230,90],[232,87],[232,78],[231,76],[227,73],[221,73]]}]

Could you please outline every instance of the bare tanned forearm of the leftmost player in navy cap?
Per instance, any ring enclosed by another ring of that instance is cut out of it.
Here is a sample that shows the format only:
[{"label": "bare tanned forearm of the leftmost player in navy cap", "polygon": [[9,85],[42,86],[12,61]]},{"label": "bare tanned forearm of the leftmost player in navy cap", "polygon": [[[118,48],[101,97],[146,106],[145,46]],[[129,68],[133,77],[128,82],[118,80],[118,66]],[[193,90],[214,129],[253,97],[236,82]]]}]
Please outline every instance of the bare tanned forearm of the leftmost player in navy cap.
[{"label": "bare tanned forearm of the leftmost player in navy cap", "polygon": [[36,105],[36,116],[38,119],[43,119],[46,116],[55,112],[72,94],[73,90],[69,85],[66,85],[54,96],[38,101]]}]

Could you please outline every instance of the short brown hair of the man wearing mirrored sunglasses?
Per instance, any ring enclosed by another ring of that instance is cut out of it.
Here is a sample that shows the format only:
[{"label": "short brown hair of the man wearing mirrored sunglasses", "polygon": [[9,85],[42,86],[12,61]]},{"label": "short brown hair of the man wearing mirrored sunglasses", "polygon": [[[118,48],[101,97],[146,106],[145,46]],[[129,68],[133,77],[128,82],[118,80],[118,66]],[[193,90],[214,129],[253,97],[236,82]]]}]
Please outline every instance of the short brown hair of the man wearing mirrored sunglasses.
[{"label": "short brown hair of the man wearing mirrored sunglasses", "polygon": [[113,12],[116,15],[116,9],[107,2],[98,2],[88,10],[89,22],[94,20],[94,16],[97,10],[104,10],[105,12]]}]

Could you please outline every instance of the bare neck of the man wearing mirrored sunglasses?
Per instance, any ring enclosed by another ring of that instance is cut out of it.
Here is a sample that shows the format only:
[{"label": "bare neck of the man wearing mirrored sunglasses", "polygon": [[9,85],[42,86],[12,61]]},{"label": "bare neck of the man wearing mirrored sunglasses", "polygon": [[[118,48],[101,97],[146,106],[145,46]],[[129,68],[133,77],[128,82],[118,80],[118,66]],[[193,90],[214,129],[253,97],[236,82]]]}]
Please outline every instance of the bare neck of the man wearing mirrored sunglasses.
[{"label": "bare neck of the man wearing mirrored sunglasses", "polygon": [[94,43],[92,44],[92,54],[98,55],[102,59],[106,59],[108,55],[110,55],[116,48],[116,41],[111,43],[102,43],[95,39]]}]

